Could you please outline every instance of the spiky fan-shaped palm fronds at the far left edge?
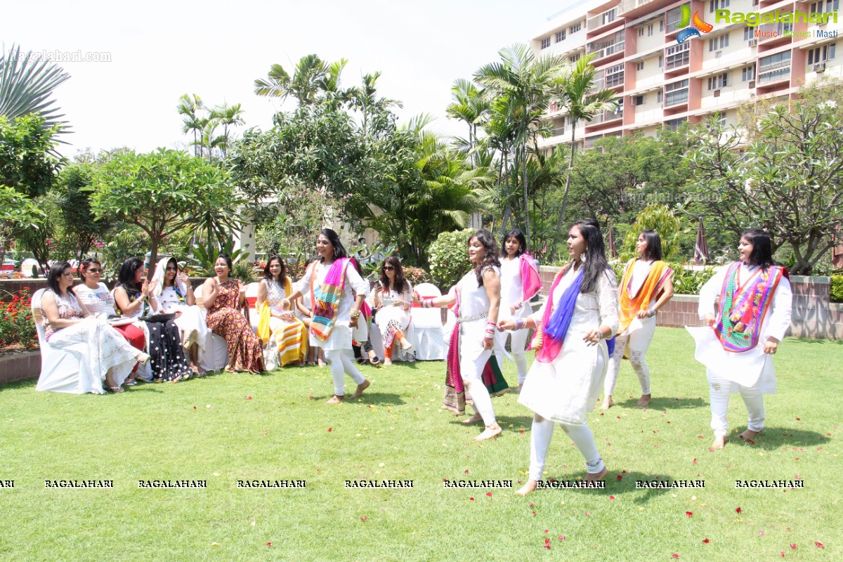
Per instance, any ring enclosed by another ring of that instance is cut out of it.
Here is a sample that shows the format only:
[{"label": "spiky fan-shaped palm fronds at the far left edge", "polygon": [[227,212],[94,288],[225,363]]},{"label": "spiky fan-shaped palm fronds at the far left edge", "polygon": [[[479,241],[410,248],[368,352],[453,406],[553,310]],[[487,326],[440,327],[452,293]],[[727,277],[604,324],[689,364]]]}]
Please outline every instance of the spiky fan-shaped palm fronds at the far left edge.
[{"label": "spiky fan-shaped palm fronds at the far left edge", "polygon": [[0,115],[14,120],[37,113],[44,117],[45,129],[58,126],[57,132],[67,132],[67,121],[56,115],[52,91],[64,83],[70,74],[53,62],[39,60],[32,51],[20,54],[20,47],[12,45],[8,56],[0,52]]}]

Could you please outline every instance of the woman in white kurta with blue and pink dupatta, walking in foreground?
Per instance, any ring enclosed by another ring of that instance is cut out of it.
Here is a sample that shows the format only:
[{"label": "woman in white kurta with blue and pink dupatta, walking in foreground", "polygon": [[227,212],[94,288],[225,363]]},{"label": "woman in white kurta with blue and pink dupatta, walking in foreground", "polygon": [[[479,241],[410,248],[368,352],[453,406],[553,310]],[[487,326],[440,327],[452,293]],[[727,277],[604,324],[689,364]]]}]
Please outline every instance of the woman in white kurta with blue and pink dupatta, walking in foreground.
[{"label": "woman in white kurta with blue and pink dupatta, walking in foreground", "polygon": [[606,475],[586,422],[609,365],[606,340],[618,327],[617,282],[606,263],[597,221],[574,223],[567,245],[572,262],[556,276],[540,311],[499,324],[500,329],[536,328],[536,359],[518,398],[535,413],[529,479],[519,495],[535,490],[542,479],[557,423],[585,458],[585,480]]}]

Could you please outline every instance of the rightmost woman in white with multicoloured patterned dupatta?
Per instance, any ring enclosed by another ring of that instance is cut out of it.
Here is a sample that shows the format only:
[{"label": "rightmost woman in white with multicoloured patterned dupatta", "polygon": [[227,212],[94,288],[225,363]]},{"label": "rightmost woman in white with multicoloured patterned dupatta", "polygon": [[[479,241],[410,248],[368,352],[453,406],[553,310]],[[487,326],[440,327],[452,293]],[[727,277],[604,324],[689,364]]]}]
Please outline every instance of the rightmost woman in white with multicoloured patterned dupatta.
[{"label": "rightmost woman in white with multicoloured patterned dupatta", "polygon": [[792,293],[787,270],[773,265],[770,237],[744,230],[740,261],[720,270],[700,291],[700,318],[708,327],[686,329],[695,359],[706,366],[711,390],[711,447],[726,445],[729,394],[739,392],[749,420],[738,435],[753,442],[764,428],[764,394],[776,393],[772,356],[790,327]]}]

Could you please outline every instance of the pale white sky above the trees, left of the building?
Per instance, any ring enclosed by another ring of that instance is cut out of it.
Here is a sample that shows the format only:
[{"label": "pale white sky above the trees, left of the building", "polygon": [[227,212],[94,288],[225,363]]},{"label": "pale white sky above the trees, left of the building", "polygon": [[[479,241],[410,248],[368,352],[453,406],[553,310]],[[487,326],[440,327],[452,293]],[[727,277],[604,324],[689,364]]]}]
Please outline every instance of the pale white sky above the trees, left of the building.
[{"label": "pale white sky above the trees, left of the building", "polygon": [[[266,131],[279,101],[254,94],[255,78],[272,64],[287,72],[304,55],[348,60],[342,85],[381,72],[379,94],[399,99],[400,120],[427,113],[431,128],[464,135],[448,120],[450,88],[457,78],[499,60],[497,51],[527,43],[561,0],[396,0],[337,2],[187,3],[3,0],[0,42],[4,51],[60,52],[71,78],[56,88],[56,105],[72,134],[59,148],[79,150],[186,147],[176,104],[198,94],[209,105],[242,104],[246,125]],[[67,56],[110,58],[73,62]],[[65,55],[64,53],[71,53]]]}]

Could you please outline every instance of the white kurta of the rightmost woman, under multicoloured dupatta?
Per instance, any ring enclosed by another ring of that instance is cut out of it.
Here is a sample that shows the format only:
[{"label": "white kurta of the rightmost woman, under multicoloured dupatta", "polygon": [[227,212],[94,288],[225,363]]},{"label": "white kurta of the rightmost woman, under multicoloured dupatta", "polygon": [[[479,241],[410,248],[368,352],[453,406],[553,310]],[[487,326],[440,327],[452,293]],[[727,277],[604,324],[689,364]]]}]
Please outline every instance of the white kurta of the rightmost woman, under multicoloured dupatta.
[{"label": "white kurta of the rightmost woman, under multicoloured dupatta", "polygon": [[[758,267],[741,265],[738,281],[745,282],[758,270]],[[700,290],[700,318],[706,314],[717,315],[715,302],[720,296],[723,283],[726,282],[728,267],[718,271]],[[758,345],[749,351],[734,353],[723,349],[713,328],[708,326],[685,326],[696,343],[694,358],[706,366],[709,376],[713,373],[718,378],[725,378],[732,382],[731,392],[738,392],[738,384],[744,387],[754,386],[759,381],[760,390],[765,394],[776,393],[776,371],[773,369],[773,358],[765,354],[764,342],[769,337],[781,341],[790,327],[792,292],[790,281],[782,277],[776,292],[773,293],[771,308],[767,311],[761,324]]]}]

